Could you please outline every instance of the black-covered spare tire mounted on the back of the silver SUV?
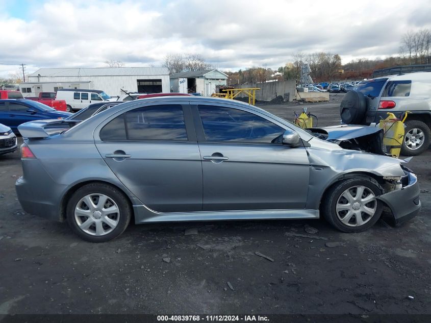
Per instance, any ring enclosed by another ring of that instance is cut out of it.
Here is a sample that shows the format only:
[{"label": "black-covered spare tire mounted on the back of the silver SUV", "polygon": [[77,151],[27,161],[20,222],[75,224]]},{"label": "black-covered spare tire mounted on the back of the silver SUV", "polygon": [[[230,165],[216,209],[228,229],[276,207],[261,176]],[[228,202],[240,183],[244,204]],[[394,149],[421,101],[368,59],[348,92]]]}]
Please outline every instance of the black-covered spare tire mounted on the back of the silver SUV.
[{"label": "black-covered spare tire mounted on the back of the silver SUV", "polygon": [[348,91],[340,104],[341,121],[347,125],[360,125],[367,110],[364,94],[357,91]]}]

